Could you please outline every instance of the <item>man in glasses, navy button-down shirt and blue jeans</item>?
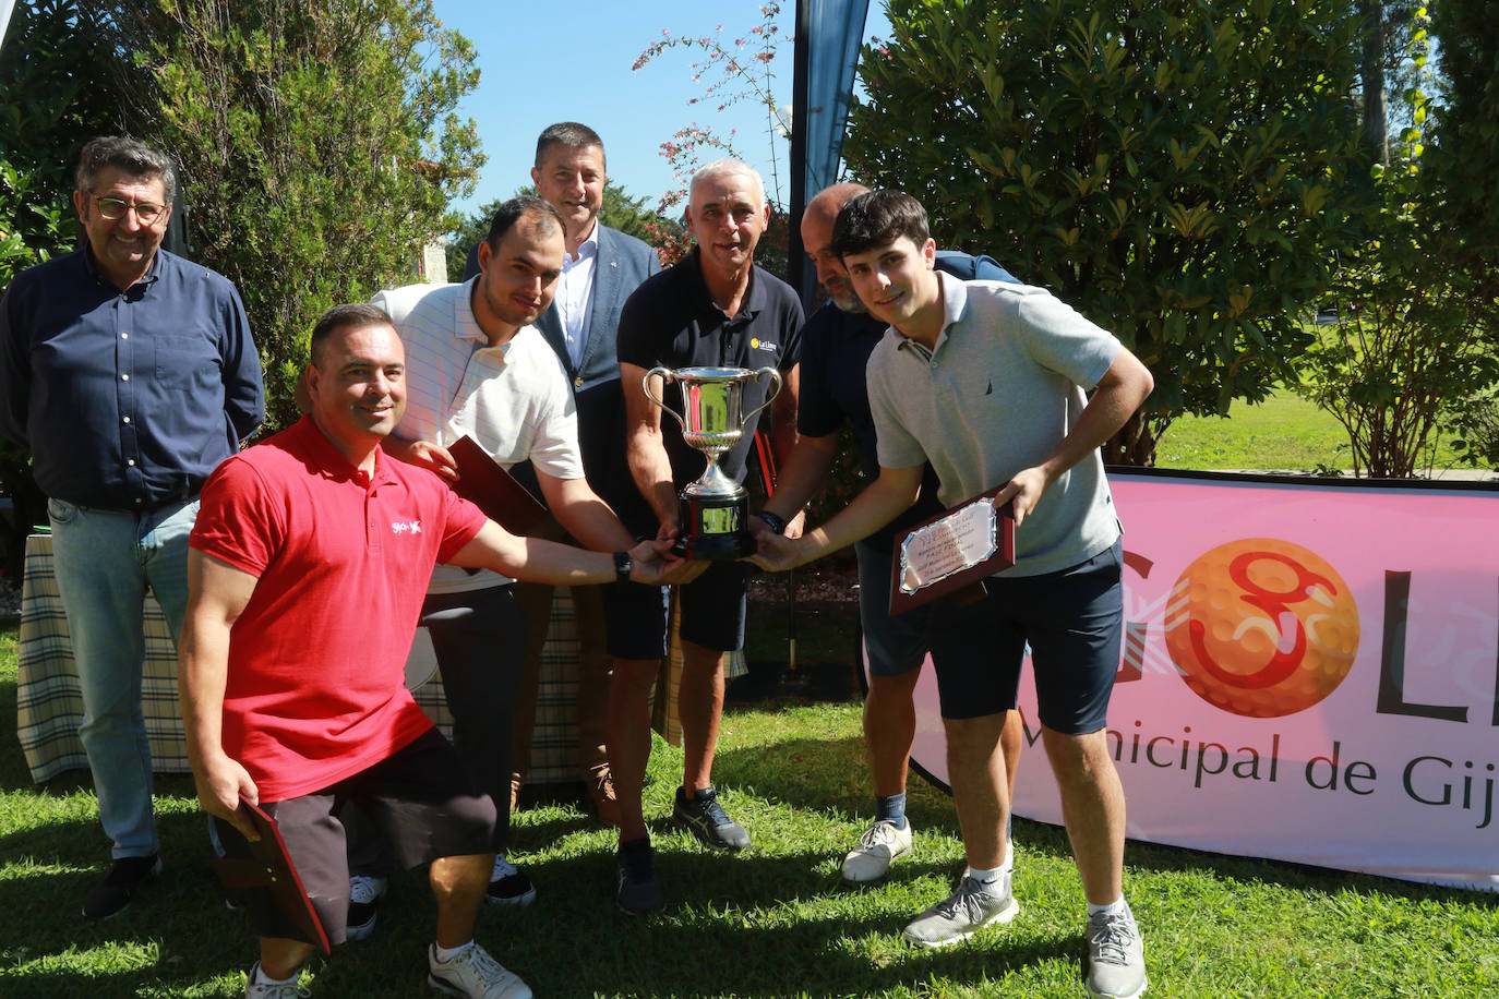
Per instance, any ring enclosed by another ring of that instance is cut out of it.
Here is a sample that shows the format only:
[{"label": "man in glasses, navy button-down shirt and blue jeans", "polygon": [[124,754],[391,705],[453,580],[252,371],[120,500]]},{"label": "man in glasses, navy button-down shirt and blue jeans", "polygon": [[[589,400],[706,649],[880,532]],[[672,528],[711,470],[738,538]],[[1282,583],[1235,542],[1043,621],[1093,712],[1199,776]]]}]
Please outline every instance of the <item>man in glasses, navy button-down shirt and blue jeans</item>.
[{"label": "man in glasses, navy button-down shirt and blue jeans", "polygon": [[264,416],[261,362],[234,286],[160,249],[171,160],[135,139],[84,145],[73,205],[87,244],[0,300],[0,433],[31,452],[114,864],[84,915],[120,912],[160,870],[141,711],[142,601],[175,641],[198,490]]}]

